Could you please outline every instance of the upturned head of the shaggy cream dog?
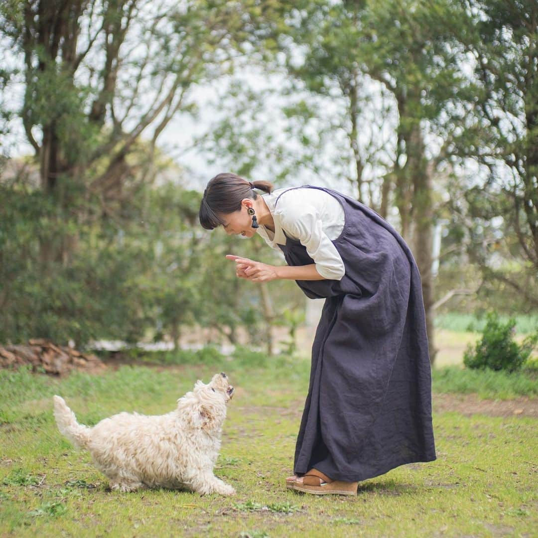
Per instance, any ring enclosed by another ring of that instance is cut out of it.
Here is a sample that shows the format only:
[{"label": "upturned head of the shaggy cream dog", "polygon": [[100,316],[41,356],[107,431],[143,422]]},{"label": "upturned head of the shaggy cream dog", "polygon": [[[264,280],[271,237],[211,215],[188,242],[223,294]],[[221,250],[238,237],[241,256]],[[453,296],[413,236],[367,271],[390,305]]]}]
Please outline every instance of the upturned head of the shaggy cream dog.
[{"label": "upturned head of the shaggy cream dog", "polygon": [[215,374],[207,385],[199,379],[193,391],[178,400],[178,410],[191,427],[214,431],[226,418],[226,404],[232,399],[233,391],[224,372]]}]

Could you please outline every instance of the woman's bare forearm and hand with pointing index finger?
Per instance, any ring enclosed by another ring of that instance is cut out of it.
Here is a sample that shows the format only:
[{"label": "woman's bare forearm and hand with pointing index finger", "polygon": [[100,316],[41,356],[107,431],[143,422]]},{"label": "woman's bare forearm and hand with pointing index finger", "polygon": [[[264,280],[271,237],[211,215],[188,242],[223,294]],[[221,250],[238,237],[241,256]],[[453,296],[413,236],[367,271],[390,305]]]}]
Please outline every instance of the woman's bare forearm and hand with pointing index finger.
[{"label": "woman's bare forearm and hand with pointing index finger", "polygon": [[239,278],[246,278],[253,282],[268,282],[277,279],[289,280],[326,280],[316,270],[316,264],[310,265],[268,265],[261,261],[254,261],[249,258],[240,258],[227,254],[226,258],[235,260],[236,274]]}]

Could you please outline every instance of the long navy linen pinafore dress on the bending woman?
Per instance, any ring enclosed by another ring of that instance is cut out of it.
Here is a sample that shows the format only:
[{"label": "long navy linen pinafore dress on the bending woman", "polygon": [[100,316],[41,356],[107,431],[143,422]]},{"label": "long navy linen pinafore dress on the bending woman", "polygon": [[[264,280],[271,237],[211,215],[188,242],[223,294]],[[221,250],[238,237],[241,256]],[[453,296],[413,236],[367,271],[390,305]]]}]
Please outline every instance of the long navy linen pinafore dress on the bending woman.
[{"label": "long navy linen pinafore dress on the bending woman", "polygon": [[[345,217],[332,241],[344,262],[342,280],[296,280],[310,299],[325,303],[294,472],[316,468],[355,482],[433,461],[426,317],[413,254],[390,224],[357,200],[324,187],[293,188],[324,190],[342,204]],[[314,263],[299,240],[286,238],[279,246],[288,265]]]}]

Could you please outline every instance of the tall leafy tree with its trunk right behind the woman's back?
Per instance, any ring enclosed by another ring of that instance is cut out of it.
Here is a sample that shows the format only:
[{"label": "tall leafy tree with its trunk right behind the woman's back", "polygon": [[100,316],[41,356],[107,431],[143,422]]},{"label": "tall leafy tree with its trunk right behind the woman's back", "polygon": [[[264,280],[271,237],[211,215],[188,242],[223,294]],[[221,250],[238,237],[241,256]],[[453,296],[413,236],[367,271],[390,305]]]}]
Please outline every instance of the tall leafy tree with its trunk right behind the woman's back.
[{"label": "tall leafy tree with its trunk right behind the woman's back", "polygon": [[[450,114],[464,83],[457,70],[461,47],[447,26],[461,14],[449,0],[305,1],[289,17],[287,39],[281,39],[290,73],[313,91],[335,95],[336,90],[347,103],[342,125],[348,125],[359,200],[370,187],[367,201],[386,216],[394,194],[401,234],[422,275],[432,361],[432,182],[438,160],[427,144],[431,126]],[[372,117],[380,118],[377,130]],[[392,130],[388,143],[387,130]],[[365,138],[365,131],[371,136]],[[376,138],[382,142],[372,144]],[[370,179],[364,177],[366,164]]]}]

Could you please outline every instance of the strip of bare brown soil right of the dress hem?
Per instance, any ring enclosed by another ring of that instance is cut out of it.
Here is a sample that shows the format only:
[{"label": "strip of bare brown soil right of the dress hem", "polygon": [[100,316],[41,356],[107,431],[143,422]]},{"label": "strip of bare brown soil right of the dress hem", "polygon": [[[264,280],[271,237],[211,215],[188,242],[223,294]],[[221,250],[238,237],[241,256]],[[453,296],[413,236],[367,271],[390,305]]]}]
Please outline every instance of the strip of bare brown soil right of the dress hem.
[{"label": "strip of bare brown soil right of the dress hem", "polygon": [[482,400],[476,394],[433,394],[434,413],[456,411],[465,416],[530,416],[538,419],[538,398],[520,397],[513,400]]}]

